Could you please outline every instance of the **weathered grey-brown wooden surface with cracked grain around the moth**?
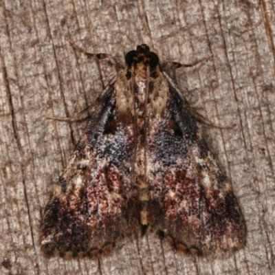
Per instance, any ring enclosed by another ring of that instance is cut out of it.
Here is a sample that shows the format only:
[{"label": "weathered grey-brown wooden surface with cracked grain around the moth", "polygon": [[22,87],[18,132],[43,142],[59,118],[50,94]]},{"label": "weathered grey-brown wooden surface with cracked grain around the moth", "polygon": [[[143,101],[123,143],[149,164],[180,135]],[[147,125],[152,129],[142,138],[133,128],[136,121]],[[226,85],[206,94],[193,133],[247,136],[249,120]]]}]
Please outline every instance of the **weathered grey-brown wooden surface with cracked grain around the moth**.
[{"label": "weathered grey-brown wooden surface with cracked grain around the moth", "polygon": [[[232,0],[0,0],[1,274],[275,274],[275,2]],[[232,180],[248,229],[243,250],[184,256],[155,234],[122,239],[98,260],[46,259],[39,225],[52,182],[87,122],[75,115],[115,74],[76,52],[124,54],[147,43],[161,61],[192,63],[177,83],[208,120],[201,125]]]}]

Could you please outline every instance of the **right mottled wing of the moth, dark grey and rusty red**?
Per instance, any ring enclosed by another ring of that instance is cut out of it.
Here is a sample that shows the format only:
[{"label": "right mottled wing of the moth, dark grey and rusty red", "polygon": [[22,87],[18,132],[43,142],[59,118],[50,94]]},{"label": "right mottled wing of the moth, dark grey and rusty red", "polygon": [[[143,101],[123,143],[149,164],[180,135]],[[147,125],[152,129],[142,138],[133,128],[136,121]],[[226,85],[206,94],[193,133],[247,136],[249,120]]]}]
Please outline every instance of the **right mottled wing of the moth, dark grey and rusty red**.
[{"label": "right mottled wing of the moth, dark grey and rusty red", "polygon": [[151,217],[175,243],[199,250],[243,245],[245,225],[230,182],[171,80],[164,115],[148,133]]}]

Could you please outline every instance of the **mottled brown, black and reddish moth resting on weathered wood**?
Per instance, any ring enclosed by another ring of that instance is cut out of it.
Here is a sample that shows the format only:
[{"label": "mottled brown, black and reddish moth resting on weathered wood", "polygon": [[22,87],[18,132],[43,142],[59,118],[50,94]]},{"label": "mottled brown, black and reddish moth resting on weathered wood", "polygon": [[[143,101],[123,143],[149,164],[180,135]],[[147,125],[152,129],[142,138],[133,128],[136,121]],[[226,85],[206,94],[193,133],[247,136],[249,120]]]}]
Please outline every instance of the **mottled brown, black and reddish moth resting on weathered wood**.
[{"label": "mottled brown, black and reddish moth resting on weathered wood", "polygon": [[125,56],[45,207],[46,252],[90,252],[152,228],[186,250],[245,242],[232,186],[147,45]]}]

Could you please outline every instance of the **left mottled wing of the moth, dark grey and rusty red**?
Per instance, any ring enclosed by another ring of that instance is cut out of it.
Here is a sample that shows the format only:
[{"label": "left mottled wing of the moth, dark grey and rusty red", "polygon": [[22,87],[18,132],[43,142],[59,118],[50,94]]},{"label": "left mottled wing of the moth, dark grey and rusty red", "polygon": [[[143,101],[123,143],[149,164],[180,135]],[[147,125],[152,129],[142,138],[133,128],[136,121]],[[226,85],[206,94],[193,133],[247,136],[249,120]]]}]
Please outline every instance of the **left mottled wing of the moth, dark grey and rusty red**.
[{"label": "left mottled wing of the moth, dark grey and rusty red", "polygon": [[[135,217],[131,175],[133,122],[122,124],[120,82],[98,102],[45,208],[41,246],[51,252],[87,252],[113,243]],[[131,115],[128,115],[131,122]]]}]

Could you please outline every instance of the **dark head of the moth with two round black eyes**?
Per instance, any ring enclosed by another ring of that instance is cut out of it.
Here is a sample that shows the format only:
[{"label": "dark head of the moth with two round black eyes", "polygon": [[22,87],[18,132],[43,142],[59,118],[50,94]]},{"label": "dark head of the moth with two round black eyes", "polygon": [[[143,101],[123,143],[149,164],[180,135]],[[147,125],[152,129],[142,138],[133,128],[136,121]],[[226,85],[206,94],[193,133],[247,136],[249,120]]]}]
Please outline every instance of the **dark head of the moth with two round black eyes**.
[{"label": "dark head of the moth with two round black eyes", "polygon": [[150,52],[150,48],[146,44],[142,44],[137,46],[137,50],[128,52],[125,61],[129,67],[137,63],[148,63],[153,68],[159,64],[159,57],[155,52]]}]

